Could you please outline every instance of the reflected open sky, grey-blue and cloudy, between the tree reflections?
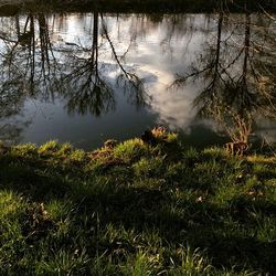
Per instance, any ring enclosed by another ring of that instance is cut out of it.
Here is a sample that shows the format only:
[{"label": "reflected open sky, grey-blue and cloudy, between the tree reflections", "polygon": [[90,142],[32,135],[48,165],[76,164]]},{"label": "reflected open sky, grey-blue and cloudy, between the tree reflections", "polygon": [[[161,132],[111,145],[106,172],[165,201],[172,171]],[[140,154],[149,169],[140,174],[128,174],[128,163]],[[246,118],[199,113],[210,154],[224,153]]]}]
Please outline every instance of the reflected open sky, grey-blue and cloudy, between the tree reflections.
[{"label": "reflected open sky, grey-blue and cloudy, between the tree reflections", "polygon": [[[23,19],[21,17],[21,22]],[[93,20],[92,13],[64,17],[54,14],[49,18],[54,55],[63,64],[66,65],[67,61],[65,50],[74,50],[78,57],[88,56],[88,53],[84,54],[79,50],[92,47]],[[106,77],[114,84],[116,110],[99,118],[77,114],[68,116],[64,99],[57,98],[54,104],[30,99],[24,109],[33,119],[32,125],[25,129],[24,141],[40,144],[57,138],[92,148],[107,138],[126,139],[137,136],[147,127],[158,124],[185,132],[197,124],[197,109],[192,104],[198,91],[195,84],[184,88],[168,87],[177,73],[187,72],[191,62],[200,57],[204,43],[215,36],[216,21],[203,14],[164,15],[160,22],[155,23],[144,15],[108,15],[104,21],[118,57],[126,53],[121,60],[125,68],[136,72],[146,82],[147,93],[151,96],[148,106],[136,110],[121,88],[116,86],[114,79],[118,75],[118,66],[115,66],[110,45],[99,28],[99,67],[106,68]],[[100,22],[99,18],[99,26]],[[208,34],[205,30],[209,30]],[[14,36],[14,32],[11,35]],[[70,72],[70,67],[65,71]],[[212,124],[204,125],[212,128]],[[272,125],[270,129],[269,139],[275,140],[275,126]]]}]

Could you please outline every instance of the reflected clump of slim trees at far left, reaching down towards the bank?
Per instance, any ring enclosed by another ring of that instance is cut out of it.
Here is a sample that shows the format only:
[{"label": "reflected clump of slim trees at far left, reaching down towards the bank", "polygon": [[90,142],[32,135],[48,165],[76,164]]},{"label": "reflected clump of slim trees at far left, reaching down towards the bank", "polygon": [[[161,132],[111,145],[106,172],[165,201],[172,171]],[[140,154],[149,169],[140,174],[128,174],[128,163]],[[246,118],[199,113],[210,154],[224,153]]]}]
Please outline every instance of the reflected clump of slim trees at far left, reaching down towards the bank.
[{"label": "reflected clump of slim trees at far left, reaching down towards the bank", "polygon": [[53,96],[57,63],[42,13],[15,14],[2,29],[0,40],[0,139],[19,141],[30,124],[18,119],[24,102],[29,97]]}]

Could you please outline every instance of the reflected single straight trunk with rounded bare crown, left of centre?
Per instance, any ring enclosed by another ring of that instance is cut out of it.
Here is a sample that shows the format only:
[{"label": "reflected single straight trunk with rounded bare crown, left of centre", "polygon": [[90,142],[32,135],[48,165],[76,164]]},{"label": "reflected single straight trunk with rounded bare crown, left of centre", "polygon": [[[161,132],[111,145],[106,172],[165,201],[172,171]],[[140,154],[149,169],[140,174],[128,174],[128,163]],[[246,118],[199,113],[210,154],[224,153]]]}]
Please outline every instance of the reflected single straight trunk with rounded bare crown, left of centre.
[{"label": "reflected single straight trunk with rounded bare crown, left of centre", "polygon": [[71,84],[65,97],[68,98],[66,107],[68,113],[77,112],[99,116],[103,112],[114,109],[114,93],[98,68],[98,13],[94,12],[93,43],[88,59],[73,55],[74,70],[65,77]]}]

